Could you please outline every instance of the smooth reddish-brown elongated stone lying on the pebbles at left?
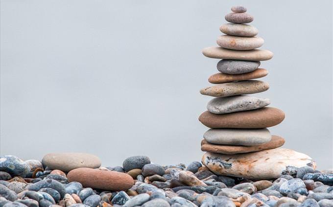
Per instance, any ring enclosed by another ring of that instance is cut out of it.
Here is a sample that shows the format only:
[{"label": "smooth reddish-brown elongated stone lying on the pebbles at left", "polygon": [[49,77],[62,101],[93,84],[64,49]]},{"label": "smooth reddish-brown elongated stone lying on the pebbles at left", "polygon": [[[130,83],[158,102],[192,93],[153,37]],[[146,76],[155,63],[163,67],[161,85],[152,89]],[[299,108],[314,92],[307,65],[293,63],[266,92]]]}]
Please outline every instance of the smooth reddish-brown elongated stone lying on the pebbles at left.
[{"label": "smooth reddish-brown elongated stone lying on the pebbles at left", "polygon": [[83,187],[111,191],[128,190],[134,184],[133,178],[126,173],[86,167],[71,170],[67,174],[67,178],[70,182],[81,183]]}]

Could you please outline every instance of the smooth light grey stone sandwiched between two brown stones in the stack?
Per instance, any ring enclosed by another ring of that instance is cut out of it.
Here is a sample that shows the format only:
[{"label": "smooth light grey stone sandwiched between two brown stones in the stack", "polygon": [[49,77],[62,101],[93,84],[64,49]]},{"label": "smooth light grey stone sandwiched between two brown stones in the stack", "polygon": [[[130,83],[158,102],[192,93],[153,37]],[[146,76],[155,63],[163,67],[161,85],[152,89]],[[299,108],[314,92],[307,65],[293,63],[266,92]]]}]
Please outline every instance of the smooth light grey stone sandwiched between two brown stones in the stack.
[{"label": "smooth light grey stone sandwiched between two brown stones in the stack", "polygon": [[212,144],[254,146],[267,143],[272,136],[268,129],[209,129],[204,134]]}]

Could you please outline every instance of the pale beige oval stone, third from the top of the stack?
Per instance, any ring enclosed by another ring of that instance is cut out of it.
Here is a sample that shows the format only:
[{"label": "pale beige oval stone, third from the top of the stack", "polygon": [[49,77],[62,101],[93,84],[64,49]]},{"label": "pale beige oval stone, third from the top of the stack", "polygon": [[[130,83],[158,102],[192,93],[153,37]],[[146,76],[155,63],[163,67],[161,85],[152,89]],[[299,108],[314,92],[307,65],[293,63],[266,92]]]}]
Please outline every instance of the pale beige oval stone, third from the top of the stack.
[{"label": "pale beige oval stone, third from the top of the stack", "polygon": [[258,34],[258,29],[252,25],[239,23],[225,23],[220,26],[220,31],[227,35],[238,37],[254,37]]}]

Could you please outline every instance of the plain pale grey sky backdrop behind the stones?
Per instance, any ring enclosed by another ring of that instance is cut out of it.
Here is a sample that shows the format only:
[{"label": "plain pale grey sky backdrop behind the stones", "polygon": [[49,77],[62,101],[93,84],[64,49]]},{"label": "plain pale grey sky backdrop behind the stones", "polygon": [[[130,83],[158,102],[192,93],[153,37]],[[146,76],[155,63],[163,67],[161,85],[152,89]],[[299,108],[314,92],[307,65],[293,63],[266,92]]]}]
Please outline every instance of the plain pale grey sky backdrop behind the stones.
[{"label": "plain pale grey sky backdrop behind the stones", "polygon": [[200,161],[198,120],[233,5],[244,5],[274,58],[263,80],[285,121],[285,148],[332,163],[332,0],[1,0],[1,155],[133,155]]}]

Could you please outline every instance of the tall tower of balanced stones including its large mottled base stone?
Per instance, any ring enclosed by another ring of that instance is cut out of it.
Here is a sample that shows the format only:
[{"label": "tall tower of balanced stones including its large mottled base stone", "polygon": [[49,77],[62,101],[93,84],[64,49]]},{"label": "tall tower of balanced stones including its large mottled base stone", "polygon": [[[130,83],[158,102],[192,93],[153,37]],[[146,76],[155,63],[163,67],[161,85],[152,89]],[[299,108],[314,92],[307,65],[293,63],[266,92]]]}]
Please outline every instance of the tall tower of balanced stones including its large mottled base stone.
[{"label": "tall tower of balanced stones including its large mottled base stone", "polygon": [[253,79],[268,74],[259,68],[260,61],[271,59],[273,53],[257,49],[264,41],[256,37],[256,27],[246,24],[253,21],[246,8],[231,10],[233,13],[225,16],[229,23],[220,27],[225,35],[218,37],[218,46],[203,49],[205,56],[221,59],[217,63],[220,72],[209,78],[216,85],[200,91],[215,97],[199,117],[211,128],[201,141],[202,151],[207,152],[203,164],[216,174],[252,179],[278,178],[301,166],[315,168],[309,156],[278,148],[285,139],[267,129],[281,123],[284,112],[267,107],[267,98],[246,95],[269,89],[268,83]]}]

